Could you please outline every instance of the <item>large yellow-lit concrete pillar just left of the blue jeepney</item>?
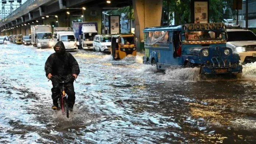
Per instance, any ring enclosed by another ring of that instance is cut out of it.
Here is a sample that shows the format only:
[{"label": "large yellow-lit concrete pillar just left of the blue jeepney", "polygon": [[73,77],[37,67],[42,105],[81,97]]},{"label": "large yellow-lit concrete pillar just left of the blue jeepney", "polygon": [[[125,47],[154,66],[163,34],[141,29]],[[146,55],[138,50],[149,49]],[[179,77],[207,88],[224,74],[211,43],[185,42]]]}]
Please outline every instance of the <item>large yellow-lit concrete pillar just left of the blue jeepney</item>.
[{"label": "large yellow-lit concrete pillar just left of the blue jeepney", "polygon": [[144,40],[142,30],[149,26],[160,26],[163,0],[132,0],[135,17],[135,37],[137,50],[141,51],[141,42]]}]

